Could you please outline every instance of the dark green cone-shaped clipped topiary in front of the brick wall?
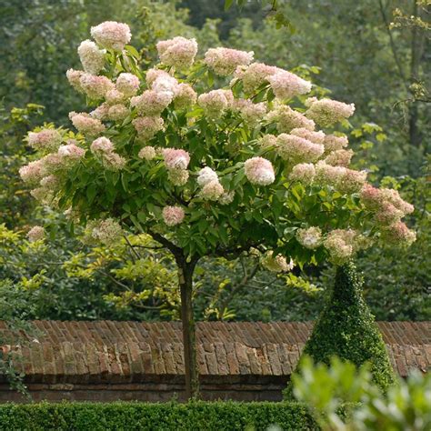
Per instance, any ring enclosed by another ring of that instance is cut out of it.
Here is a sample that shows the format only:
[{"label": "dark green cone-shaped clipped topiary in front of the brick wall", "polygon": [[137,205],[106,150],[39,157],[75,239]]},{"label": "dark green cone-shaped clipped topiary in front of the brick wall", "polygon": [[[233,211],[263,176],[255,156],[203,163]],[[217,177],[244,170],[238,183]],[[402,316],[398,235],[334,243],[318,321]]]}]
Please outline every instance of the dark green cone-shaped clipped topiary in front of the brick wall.
[{"label": "dark green cone-shaped clipped topiary in front of the brick wall", "polygon": [[[366,305],[362,280],[352,263],[337,267],[334,289],[306,342],[305,355],[311,356],[315,363],[327,365],[332,356],[356,366],[368,362],[373,380],[384,392],[394,382],[385,343]],[[286,389],[286,396],[291,393],[290,389]]]}]

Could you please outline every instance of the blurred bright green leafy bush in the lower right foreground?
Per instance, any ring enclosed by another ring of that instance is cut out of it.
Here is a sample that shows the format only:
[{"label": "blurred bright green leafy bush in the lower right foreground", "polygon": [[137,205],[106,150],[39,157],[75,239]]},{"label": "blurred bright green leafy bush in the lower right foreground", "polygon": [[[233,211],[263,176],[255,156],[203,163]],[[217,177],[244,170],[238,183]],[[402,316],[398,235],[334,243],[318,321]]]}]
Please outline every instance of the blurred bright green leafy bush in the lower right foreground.
[{"label": "blurred bright green leafy bush in the lower right foreground", "polygon": [[[331,359],[331,366],[304,358],[292,376],[294,394],[305,402],[324,430],[424,431],[431,428],[431,375],[415,370],[384,395],[372,380],[369,365]],[[344,406],[344,416],[339,415]]]}]

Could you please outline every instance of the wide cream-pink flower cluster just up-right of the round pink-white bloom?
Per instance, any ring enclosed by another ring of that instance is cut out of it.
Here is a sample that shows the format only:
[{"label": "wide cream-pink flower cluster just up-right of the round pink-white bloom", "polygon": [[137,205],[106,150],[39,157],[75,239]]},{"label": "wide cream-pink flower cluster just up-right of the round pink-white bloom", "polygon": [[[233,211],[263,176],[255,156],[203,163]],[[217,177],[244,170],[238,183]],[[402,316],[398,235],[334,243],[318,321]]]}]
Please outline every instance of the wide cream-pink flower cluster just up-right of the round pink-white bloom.
[{"label": "wide cream-pink flower cluster just up-right of the round pink-white bloom", "polygon": [[281,134],[276,139],[276,153],[291,165],[315,162],[324,151],[324,145],[313,144],[296,135]]}]

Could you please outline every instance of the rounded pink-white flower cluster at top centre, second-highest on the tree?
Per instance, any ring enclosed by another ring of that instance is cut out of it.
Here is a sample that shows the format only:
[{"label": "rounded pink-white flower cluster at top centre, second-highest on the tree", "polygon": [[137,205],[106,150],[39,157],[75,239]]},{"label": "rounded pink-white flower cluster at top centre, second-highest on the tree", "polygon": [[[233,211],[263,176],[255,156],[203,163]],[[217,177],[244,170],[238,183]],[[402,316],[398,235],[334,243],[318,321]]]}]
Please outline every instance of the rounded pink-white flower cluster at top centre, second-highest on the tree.
[{"label": "rounded pink-white flower cluster at top centre, second-highest on the tree", "polygon": [[156,47],[160,61],[177,69],[186,69],[193,65],[197,54],[195,39],[185,39],[181,36],[161,41]]}]

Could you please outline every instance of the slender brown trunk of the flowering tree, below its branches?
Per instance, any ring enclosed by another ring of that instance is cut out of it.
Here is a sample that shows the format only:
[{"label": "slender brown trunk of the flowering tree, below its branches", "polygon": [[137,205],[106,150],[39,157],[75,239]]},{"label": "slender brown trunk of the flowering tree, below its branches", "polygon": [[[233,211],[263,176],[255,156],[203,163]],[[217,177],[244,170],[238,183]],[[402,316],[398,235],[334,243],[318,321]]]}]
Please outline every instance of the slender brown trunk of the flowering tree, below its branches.
[{"label": "slender brown trunk of the flowering tree, below its branches", "polygon": [[195,317],[193,316],[193,273],[195,262],[177,262],[181,294],[181,321],[183,325],[185,396],[187,399],[199,396],[199,376],[196,359]]}]

